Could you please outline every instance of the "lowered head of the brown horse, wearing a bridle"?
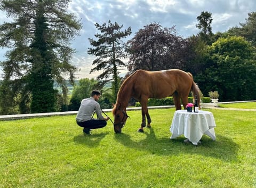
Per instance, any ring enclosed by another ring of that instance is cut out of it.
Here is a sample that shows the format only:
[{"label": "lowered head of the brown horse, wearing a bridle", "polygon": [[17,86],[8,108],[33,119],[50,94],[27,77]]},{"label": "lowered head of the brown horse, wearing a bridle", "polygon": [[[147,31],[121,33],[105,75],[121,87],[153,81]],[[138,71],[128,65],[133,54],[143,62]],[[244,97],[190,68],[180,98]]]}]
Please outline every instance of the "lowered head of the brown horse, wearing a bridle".
[{"label": "lowered head of the brown horse, wearing a bridle", "polygon": [[121,133],[122,128],[125,125],[126,119],[129,118],[127,115],[125,108],[122,109],[121,107],[115,107],[113,108],[113,115],[114,115],[114,130],[116,133]]}]

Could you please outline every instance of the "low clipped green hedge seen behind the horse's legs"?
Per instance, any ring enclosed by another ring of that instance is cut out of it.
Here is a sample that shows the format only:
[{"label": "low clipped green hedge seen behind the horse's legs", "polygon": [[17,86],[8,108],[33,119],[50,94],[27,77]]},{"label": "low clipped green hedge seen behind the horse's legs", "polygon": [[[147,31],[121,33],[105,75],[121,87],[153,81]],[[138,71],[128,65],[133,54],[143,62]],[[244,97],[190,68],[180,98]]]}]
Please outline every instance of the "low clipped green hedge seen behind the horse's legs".
[{"label": "low clipped green hedge seen behind the horse's legs", "polygon": [[[201,101],[203,103],[210,103],[211,98],[210,97],[202,97]],[[188,102],[193,103],[193,97],[192,96],[188,97]],[[148,99],[148,107],[165,106],[165,105],[174,105],[172,96],[166,97],[164,99]],[[135,103],[135,107],[140,107],[140,106],[141,105],[140,105],[139,102]]]}]

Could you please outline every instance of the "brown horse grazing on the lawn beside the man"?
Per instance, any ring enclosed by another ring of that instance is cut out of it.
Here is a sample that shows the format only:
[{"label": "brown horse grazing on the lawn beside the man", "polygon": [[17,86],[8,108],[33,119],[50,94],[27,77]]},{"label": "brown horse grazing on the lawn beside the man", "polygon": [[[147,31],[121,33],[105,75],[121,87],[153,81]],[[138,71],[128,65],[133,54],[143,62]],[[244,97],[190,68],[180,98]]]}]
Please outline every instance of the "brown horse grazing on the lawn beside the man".
[{"label": "brown horse grazing on the lawn beside the man", "polygon": [[[179,69],[146,71],[137,70],[126,78],[117,94],[116,104],[113,108],[114,130],[116,133],[122,132],[127,117],[126,107],[131,97],[137,99],[141,104],[142,123],[138,132],[143,132],[143,127],[151,127],[151,119],[148,113],[147,102],[149,98],[162,99],[173,96],[176,110],[181,109],[180,100],[183,108],[188,104],[188,95],[192,91],[193,96],[197,95],[197,103],[200,102],[199,88],[189,72]],[[195,97],[194,97],[195,98]]]}]

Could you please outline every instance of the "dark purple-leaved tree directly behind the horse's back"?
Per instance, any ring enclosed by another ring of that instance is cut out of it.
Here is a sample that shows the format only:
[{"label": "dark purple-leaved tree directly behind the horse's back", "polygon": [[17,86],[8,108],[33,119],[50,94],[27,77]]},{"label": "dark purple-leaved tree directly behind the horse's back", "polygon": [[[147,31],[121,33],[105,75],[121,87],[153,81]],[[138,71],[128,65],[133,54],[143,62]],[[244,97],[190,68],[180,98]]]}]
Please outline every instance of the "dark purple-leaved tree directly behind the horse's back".
[{"label": "dark purple-leaved tree directly behind the horse's back", "polygon": [[174,26],[162,28],[159,23],[150,23],[127,42],[129,71],[182,69],[185,51],[186,41],[176,35]]}]

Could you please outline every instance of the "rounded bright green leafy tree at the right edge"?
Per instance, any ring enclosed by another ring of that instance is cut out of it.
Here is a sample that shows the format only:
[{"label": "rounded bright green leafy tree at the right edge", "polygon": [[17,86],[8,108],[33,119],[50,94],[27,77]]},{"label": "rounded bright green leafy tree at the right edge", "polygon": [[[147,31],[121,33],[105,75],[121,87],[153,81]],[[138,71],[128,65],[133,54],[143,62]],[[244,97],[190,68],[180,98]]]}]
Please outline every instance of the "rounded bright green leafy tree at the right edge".
[{"label": "rounded bright green leafy tree at the right edge", "polygon": [[203,93],[218,91],[221,101],[255,100],[255,48],[243,37],[219,38],[209,48],[210,61],[195,78]]}]

